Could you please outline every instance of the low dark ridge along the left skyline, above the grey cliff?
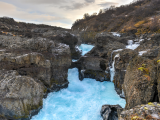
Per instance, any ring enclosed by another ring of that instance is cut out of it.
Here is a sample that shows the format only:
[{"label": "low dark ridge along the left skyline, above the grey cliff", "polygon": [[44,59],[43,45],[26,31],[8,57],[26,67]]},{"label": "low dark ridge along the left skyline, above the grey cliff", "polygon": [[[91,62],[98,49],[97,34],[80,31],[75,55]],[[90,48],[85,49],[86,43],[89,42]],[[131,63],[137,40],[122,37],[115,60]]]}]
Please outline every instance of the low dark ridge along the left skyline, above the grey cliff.
[{"label": "low dark ridge along the left skyline, above the grey cliff", "polygon": [[70,31],[70,29],[65,29],[62,27],[50,26],[45,24],[18,22],[10,17],[0,17],[0,35],[11,33],[13,35],[31,38],[34,33],[34,36],[42,37],[40,33],[43,33],[48,30]]}]

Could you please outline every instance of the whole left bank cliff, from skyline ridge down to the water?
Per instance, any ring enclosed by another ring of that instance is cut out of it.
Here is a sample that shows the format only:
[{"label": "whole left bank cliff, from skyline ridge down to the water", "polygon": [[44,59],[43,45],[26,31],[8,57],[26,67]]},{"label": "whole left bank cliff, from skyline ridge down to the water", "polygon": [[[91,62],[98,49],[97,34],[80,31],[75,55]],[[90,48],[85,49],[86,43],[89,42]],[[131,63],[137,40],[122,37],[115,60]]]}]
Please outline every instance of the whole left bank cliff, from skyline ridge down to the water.
[{"label": "whole left bank cliff, from skyline ridge down to the water", "polygon": [[[0,24],[0,117],[29,119],[48,92],[68,86],[71,56],[81,54],[78,40],[62,28],[11,18],[0,18]],[[47,35],[51,31],[55,34]]]}]

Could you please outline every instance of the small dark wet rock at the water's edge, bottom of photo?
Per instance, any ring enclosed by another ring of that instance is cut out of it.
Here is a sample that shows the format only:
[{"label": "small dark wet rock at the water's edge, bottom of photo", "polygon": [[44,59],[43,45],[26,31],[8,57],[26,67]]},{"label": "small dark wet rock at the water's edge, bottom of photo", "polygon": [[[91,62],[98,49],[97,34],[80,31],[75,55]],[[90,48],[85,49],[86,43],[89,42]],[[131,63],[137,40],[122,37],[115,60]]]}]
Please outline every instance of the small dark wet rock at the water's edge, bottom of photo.
[{"label": "small dark wet rock at the water's edge, bottom of photo", "polygon": [[103,105],[100,112],[103,120],[118,120],[117,110],[121,108],[120,105]]}]

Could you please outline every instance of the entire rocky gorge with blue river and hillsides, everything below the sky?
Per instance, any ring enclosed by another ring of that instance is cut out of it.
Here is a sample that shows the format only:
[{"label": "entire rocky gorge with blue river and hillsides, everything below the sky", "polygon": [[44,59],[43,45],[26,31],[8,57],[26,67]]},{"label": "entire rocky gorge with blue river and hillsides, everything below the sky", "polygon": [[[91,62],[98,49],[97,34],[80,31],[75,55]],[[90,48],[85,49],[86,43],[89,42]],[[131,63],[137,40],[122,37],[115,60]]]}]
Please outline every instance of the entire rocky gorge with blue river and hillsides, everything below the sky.
[{"label": "entire rocky gorge with blue river and hillsides, everything below the sky", "polygon": [[71,29],[0,17],[0,120],[160,120],[159,6],[111,6]]}]

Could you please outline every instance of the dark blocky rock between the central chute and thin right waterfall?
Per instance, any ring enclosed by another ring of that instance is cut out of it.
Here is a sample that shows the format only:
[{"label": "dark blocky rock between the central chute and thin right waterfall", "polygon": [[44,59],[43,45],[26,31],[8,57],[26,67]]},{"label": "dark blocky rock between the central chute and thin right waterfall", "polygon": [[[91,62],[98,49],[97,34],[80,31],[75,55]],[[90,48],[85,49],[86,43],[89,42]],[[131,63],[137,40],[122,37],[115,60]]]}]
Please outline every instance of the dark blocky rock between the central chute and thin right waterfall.
[{"label": "dark blocky rock between the central chute and thin right waterfall", "polygon": [[92,78],[97,81],[110,80],[110,74],[105,71],[107,63],[103,58],[84,56],[75,64],[77,64],[76,67],[79,68],[80,80],[84,78]]}]

